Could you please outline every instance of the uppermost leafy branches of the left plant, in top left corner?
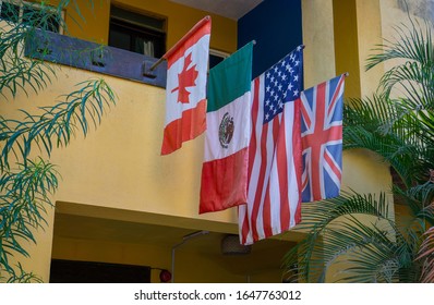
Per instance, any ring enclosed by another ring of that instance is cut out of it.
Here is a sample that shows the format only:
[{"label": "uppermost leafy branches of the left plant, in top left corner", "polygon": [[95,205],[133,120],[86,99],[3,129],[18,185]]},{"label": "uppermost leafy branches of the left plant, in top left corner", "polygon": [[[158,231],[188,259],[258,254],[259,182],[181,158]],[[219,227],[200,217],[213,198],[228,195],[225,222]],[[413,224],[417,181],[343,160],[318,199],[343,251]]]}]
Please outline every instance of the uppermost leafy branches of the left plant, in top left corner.
[{"label": "uppermost leafy branches of the left plant, in top left corner", "polygon": [[[17,3],[16,3],[17,2]],[[28,90],[38,93],[47,87],[51,77],[56,77],[57,66],[43,60],[40,53],[47,52],[40,48],[25,48],[25,45],[33,41],[46,40],[46,36],[53,26],[60,26],[64,33],[68,33],[68,25],[63,12],[72,20],[70,12],[75,12],[84,21],[76,1],[61,0],[53,8],[46,2],[41,2],[37,9],[27,5],[22,13],[14,10],[20,5],[19,0],[13,4],[4,2],[2,4],[2,14],[9,17],[2,22],[7,26],[0,28],[0,95],[8,98],[8,94],[15,97],[19,91],[26,95]],[[93,8],[93,1],[91,7]],[[68,7],[68,10],[65,8]],[[77,23],[80,24],[80,23]],[[24,57],[24,50],[38,52],[38,60],[35,60],[32,53],[27,54],[31,59]]]}]

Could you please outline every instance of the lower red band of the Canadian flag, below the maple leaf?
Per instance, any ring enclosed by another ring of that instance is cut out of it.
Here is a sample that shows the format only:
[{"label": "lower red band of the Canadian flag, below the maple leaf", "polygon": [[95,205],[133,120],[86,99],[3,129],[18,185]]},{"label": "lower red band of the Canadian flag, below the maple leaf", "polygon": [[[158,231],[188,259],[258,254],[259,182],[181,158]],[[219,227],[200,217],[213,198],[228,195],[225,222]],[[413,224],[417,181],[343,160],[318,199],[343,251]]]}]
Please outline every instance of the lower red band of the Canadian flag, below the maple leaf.
[{"label": "lower red band of the Canadian flag, below the maple leaf", "polygon": [[182,117],[166,125],[164,131],[161,155],[179,149],[182,142],[193,139],[206,130],[206,99],[197,107],[185,110]]}]

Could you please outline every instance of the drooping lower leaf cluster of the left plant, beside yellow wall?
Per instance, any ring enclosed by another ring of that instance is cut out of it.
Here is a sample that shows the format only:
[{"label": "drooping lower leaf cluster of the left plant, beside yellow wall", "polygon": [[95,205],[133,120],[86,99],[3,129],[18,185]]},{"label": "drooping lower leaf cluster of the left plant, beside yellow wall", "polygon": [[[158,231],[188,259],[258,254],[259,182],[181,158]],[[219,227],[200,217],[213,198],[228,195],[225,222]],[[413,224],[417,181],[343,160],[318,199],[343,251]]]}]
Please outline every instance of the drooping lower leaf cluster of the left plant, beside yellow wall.
[{"label": "drooping lower leaf cluster of the left plant, beside yellow wall", "polygon": [[43,159],[27,160],[19,171],[0,176],[0,266],[14,253],[27,256],[24,241],[36,242],[34,230],[46,224],[46,208],[58,187],[56,168]]}]

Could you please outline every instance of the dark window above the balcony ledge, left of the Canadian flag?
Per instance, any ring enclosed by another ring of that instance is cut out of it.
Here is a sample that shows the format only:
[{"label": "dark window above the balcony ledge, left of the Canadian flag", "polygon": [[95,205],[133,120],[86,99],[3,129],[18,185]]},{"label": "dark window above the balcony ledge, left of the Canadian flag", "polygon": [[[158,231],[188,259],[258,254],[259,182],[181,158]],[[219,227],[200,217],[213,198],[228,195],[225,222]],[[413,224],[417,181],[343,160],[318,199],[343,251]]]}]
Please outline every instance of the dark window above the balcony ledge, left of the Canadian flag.
[{"label": "dark window above the balcony ledge, left of the Canadian flag", "polygon": [[160,58],[166,52],[166,20],[111,5],[109,46]]}]

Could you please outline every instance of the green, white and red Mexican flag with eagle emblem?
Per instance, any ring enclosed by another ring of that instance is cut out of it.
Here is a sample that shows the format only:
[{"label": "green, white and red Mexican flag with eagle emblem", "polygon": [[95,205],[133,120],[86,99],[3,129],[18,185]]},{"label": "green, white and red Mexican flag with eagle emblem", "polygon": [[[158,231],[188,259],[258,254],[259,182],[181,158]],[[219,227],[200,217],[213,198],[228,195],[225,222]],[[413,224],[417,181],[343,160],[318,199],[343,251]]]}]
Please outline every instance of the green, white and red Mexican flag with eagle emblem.
[{"label": "green, white and red Mexican flag with eagle emblem", "polygon": [[200,213],[248,200],[253,42],[209,70]]}]

